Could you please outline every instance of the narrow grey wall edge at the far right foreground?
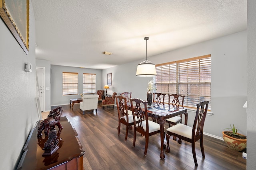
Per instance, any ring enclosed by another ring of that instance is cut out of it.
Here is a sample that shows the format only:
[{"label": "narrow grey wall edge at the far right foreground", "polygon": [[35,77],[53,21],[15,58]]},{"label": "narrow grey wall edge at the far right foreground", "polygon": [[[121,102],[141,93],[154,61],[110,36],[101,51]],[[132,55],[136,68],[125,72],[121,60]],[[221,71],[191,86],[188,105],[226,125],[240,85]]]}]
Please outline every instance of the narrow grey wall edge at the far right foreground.
[{"label": "narrow grey wall edge at the far right foreground", "polygon": [[247,1],[248,18],[248,108],[247,108],[247,169],[256,169],[256,1]]}]

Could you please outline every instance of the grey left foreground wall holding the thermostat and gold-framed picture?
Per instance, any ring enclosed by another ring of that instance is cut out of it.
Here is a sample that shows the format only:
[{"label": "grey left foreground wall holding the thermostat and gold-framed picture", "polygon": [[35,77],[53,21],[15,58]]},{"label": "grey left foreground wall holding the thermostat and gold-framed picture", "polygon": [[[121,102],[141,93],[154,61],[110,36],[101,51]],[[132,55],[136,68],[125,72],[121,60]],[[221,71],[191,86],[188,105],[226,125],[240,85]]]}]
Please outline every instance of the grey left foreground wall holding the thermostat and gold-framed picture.
[{"label": "grey left foreground wall holding the thermostat and gold-framed picture", "polygon": [[[23,51],[0,19],[0,169],[16,169],[28,134],[36,121],[35,19],[30,2],[29,53]],[[24,71],[24,63],[32,72]]]}]

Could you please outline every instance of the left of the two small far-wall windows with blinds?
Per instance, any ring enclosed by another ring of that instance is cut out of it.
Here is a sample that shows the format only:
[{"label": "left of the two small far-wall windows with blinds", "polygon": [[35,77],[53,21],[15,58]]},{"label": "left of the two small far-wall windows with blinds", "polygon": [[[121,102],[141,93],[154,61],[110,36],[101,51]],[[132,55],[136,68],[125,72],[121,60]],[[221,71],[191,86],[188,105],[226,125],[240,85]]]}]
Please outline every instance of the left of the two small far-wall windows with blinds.
[{"label": "left of the two small far-wall windows with blinds", "polygon": [[78,94],[78,73],[62,72],[62,94]]}]

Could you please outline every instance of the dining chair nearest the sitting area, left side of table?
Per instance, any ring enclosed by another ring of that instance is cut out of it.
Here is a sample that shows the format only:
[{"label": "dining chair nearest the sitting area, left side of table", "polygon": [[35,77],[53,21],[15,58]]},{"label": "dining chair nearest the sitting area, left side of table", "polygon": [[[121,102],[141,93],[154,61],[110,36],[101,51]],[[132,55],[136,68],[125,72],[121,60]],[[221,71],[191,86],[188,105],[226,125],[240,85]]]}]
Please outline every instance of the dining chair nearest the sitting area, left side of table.
[{"label": "dining chair nearest the sitting area, left side of table", "polygon": [[[126,98],[123,96],[116,96],[116,106],[117,106],[117,111],[118,111],[118,136],[120,134],[120,126],[121,123],[126,125],[126,133],[125,133],[125,141],[127,141],[127,136],[128,136],[128,130],[132,130],[132,125],[133,123],[133,116],[132,116],[132,111],[127,109],[127,102]],[[136,119],[136,117],[135,117]],[[136,119],[138,121],[138,119]]]}]

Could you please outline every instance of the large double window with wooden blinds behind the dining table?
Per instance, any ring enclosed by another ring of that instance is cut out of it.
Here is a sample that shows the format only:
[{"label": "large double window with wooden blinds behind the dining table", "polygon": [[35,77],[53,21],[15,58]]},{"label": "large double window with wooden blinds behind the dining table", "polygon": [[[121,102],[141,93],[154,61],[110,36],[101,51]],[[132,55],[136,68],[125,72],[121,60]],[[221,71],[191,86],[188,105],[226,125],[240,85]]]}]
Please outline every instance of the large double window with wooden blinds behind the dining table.
[{"label": "large double window with wooden blinds behind the dining table", "polygon": [[[157,64],[156,74],[157,92],[185,95],[186,107],[211,100],[211,55]],[[164,102],[168,103],[168,98]]]}]

